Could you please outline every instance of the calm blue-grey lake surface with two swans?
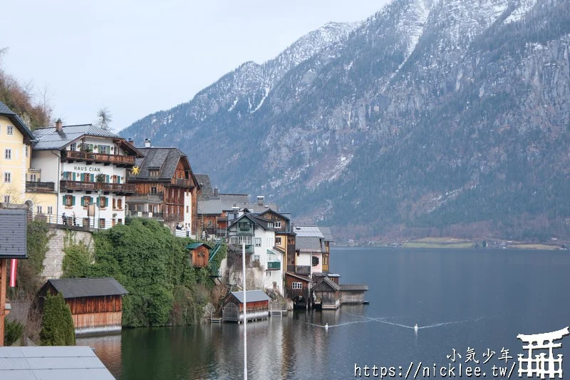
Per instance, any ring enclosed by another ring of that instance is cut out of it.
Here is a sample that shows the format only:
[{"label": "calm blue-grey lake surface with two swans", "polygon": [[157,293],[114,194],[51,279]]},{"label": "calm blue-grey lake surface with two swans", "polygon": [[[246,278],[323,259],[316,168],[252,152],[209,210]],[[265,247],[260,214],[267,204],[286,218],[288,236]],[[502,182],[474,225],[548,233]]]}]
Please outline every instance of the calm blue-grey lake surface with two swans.
[{"label": "calm blue-grey lake surface with two swans", "polygon": [[[341,283],[368,284],[371,303],[248,324],[249,379],[354,379],[355,364],[393,366],[404,379],[413,362],[411,379],[420,361],[436,364],[431,378],[450,364],[458,377],[460,362],[463,377],[465,366],[480,366],[493,378],[493,365],[510,370],[525,354],[517,334],[570,324],[567,251],[333,249],[331,271]],[[129,329],[78,344],[95,347],[118,379],[243,379],[242,329]],[[570,371],[570,337],[559,342],[554,354],[568,358]],[[465,363],[468,348],[480,364]],[[446,357],[453,349],[461,355],[455,363]],[[483,364],[487,349],[495,354]],[[499,360],[502,349],[513,358],[507,364]]]}]

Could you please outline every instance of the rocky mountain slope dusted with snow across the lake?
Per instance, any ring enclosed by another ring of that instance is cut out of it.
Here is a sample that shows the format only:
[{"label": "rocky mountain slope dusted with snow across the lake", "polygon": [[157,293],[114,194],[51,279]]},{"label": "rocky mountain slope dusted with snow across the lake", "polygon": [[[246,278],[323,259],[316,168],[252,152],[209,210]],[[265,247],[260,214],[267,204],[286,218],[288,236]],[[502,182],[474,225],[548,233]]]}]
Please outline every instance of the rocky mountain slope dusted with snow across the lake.
[{"label": "rocky mountain slope dusted with snow across the lake", "polygon": [[122,134],[337,234],[569,237],[569,46],[568,1],[394,0]]}]

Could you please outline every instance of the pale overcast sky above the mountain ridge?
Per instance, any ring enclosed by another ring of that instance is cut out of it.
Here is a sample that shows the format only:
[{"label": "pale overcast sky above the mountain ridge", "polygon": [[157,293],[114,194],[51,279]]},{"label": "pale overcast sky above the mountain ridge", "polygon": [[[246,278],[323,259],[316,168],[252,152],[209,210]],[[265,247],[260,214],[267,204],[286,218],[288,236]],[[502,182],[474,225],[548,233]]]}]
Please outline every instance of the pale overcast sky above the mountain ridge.
[{"label": "pale overcast sky above the mountain ridge", "polygon": [[54,117],[92,123],[107,107],[120,130],[189,101],[244,61],[262,63],[328,21],[366,19],[387,1],[8,1],[0,48],[9,47],[7,73],[48,87]]}]

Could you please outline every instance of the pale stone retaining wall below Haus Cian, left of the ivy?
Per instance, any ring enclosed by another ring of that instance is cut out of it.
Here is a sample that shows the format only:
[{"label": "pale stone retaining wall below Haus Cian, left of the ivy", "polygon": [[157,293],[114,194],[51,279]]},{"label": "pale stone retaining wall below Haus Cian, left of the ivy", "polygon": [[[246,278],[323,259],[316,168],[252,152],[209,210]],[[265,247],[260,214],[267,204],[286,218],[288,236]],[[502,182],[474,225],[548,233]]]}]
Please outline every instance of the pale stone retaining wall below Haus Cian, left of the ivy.
[{"label": "pale stone retaining wall below Haus Cian, left of the ivy", "polygon": [[84,242],[89,251],[93,253],[93,235],[88,231],[76,231],[62,228],[50,227],[49,232],[52,237],[49,241],[49,250],[46,253],[46,258],[43,260],[43,272],[41,276],[46,279],[58,279],[61,277],[63,264],[63,247],[66,245],[66,240],[70,242]]}]

